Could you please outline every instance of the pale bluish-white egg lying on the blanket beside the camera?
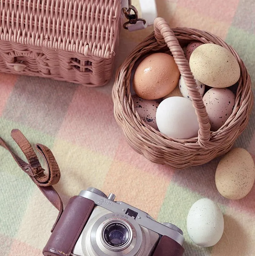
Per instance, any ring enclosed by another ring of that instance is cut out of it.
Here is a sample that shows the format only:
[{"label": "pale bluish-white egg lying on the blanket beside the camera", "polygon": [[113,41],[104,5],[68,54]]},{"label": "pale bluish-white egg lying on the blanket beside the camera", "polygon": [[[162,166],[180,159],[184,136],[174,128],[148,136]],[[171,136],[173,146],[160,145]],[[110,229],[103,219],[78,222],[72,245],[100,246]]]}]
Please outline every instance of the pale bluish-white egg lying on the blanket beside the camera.
[{"label": "pale bluish-white egg lying on the blanket beside the camera", "polygon": [[208,198],[196,201],[187,216],[187,230],[192,241],[202,247],[219,242],[224,230],[224,220],[219,206]]}]

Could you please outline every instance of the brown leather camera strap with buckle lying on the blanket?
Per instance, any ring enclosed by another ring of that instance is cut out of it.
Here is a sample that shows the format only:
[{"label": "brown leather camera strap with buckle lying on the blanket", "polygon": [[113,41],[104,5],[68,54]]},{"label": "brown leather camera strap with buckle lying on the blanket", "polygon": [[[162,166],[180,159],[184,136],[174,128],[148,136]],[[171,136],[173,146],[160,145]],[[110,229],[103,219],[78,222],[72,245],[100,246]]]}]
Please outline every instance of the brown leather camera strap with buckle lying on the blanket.
[{"label": "brown leather camera strap with buckle lying on the blanket", "polygon": [[45,175],[41,164],[38,160],[38,157],[33,150],[31,144],[25,138],[25,136],[21,133],[20,130],[14,129],[11,131],[11,137],[18,144],[22,152],[24,153],[28,163],[20,159],[10,147],[4,142],[4,140],[0,137],[0,145],[6,148],[17,162],[19,167],[30,176],[33,182],[39,187],[42,193],[46,196],[46,198],[59,210],[59,214],[57,220],[51,231],[55,228],[57,221],[59,220],[62,212],[63,212],[63,203],[58,195],[57,191],[52,187],[52,185],[56,184],[60,179],[60,170],[58,164],[53,156],[52,152],[44,145],[36,144],[37,151],[43,156],[47,163],[48,174]]}]

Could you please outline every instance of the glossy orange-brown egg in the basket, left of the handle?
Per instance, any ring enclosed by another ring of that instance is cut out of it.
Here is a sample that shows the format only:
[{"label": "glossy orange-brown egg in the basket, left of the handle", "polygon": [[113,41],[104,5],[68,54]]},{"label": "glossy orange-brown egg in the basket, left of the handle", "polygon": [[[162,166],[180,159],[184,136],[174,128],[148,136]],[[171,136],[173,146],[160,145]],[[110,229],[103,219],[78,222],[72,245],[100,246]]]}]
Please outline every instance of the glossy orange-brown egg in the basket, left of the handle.
[{"label": "glossy orange-brown egg in the basket, left of the handle", "polygon": [[133,79],[135,93],[143,99],[159,99],[176,88],[180,77],[174,58],[166,53],[153,53],[137,67]]}]

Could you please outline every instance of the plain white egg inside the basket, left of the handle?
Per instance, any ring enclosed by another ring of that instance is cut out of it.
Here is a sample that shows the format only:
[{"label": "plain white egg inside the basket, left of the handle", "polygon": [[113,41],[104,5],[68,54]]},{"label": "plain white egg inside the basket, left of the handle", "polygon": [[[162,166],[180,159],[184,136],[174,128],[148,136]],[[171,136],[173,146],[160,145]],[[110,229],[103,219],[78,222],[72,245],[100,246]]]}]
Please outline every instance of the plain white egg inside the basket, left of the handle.
[{"label": "plain white egg inside the basket, left of the handle", "polygon": [[183,97],[169,97],[157,107],[156,122],[159,131],[171,138],[190,139],[198,136],[199,123],[195,108]]}]

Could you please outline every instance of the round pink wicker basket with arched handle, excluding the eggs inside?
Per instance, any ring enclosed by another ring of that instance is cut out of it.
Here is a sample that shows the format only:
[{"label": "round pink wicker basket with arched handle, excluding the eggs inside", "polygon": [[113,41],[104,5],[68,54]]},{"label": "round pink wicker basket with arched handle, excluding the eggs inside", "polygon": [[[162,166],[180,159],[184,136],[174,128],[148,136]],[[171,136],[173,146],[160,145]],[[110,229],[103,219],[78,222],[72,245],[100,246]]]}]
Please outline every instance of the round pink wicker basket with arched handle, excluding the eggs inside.
[{"label": "round pink wicker basket with arched handle, excluding the eggs inside", "polygon": [[[241,76],[232,114],[217,131],[210,131],[208,114],[202,96],[196,89],[193,74],[182,47],[193,40],[214,43],[230,50],[237,59]],[[171,52],[184,77],[199,121],[198,137],[174,139],[147,125],[135,110],[130,93],[130,77],[135,62],[153,52]],[[163,18],[154,22],[154,32],[145,38],[119,67],[113,86],[114,116],[122,128],[128,144],[145,158],[174,168],[185,168],[209,162],[228,152],[249,121],[253,105],[251,78],[237,52],[216,35],[192,28],[169,27]]]}]

